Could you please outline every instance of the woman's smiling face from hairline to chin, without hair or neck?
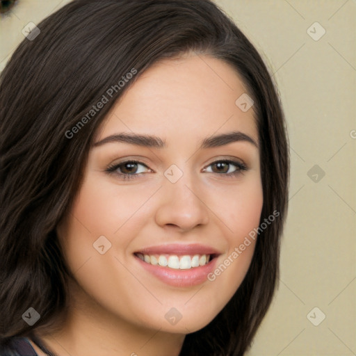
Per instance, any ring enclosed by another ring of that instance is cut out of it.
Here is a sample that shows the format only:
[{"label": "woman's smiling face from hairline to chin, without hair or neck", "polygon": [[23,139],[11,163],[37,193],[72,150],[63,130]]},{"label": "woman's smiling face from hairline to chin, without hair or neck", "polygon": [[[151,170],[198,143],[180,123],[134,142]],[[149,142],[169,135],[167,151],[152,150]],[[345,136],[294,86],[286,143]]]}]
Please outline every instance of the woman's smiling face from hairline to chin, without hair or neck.
[{"label": "woman's smiling face from hairline to chin, without hair or neck", "polygon": [[232,298],[263,204],[244,92],[223,61],[186,56],[149,67],[115,104],[58,227],[77,312],[187,334]]}]

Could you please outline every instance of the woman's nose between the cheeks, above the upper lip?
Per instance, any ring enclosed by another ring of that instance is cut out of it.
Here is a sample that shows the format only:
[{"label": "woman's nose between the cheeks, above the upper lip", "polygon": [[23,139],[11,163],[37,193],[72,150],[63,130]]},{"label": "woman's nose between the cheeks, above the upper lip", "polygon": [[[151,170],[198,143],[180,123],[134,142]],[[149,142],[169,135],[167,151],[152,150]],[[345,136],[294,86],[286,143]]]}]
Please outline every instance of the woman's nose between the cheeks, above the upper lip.
[{"label": "woman's nose between the cheeks, above the upper lip", "polygon": [[209,223],[209,208],[204,203],[204,194],[194,184],[191,175],[185,173],[175,183],[164,179],[160,199],[156,223],[161,227],[174,225],[184,232]]}]

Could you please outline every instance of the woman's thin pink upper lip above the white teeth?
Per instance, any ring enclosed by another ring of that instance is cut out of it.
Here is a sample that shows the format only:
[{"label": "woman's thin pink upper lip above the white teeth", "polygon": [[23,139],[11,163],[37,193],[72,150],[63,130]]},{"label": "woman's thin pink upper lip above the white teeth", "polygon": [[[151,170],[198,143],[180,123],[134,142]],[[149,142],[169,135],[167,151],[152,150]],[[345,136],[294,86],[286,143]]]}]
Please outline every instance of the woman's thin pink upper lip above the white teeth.
[{"label": "woman's thin pink upper lip above the white teeth", "polygon": [[200,243],[171,243],[143,248],[135,253],[142,254],[220,254],[215,248]]}]

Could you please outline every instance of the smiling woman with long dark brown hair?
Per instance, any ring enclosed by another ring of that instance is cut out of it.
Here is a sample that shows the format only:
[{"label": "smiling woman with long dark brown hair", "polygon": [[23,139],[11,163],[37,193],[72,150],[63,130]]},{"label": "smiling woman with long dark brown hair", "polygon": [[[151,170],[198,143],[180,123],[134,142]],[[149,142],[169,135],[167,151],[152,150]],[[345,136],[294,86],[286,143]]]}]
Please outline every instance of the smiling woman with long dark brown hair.
[{"label": "smiling woman with long dark brown hair", "polygon": [[0,355],[243,355],[288,196],[261,57],[208,0],[38,29],[1,74]]}]

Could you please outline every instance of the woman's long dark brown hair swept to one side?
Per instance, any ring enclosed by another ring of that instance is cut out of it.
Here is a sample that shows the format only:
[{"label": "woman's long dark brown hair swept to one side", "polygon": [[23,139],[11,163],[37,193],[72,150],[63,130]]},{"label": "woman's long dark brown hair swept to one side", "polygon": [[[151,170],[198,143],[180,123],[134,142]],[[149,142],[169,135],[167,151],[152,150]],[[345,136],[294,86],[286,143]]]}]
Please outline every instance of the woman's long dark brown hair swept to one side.
[{"label": "woman's long dark brown hair swept to one side", "polygon": [[[0,76],[0,344],[51,323],[67,305],[56,226],[83,179],[92,138],[115,102],[150,65],[193,52],[225,61],[254,100],[264,204],[252,263],[233,298],[206,327],[186,335],[181,356],[243,355],[266,314],[279,275],[289,150],[277,90],[263,60],[209,0],[74,0],[38,24]],[[67,138],[102,95],[136,76]],[[236,98],[237,99],[237,98]],[[41,315],[22,320],[29,307]]]}]

